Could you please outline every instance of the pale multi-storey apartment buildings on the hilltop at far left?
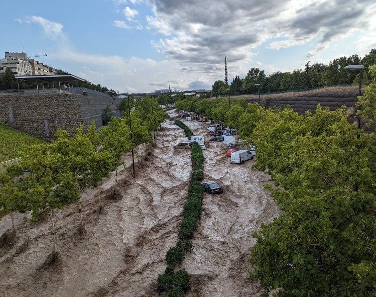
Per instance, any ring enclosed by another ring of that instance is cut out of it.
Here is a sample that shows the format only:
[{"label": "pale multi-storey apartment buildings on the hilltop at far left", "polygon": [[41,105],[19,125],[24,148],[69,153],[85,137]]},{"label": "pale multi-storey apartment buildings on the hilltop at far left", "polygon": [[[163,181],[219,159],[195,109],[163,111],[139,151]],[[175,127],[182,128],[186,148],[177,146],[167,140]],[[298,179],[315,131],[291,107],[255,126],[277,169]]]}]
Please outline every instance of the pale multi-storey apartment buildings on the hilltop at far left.
[{"label": "pale multi-storey apartment buildings on the hilltop at far left", "polygon": [[28,58],[26,53],[6,52],[5,58],[0,60],[0,73],[7,68],[16,75],[51,75],[56,74],[57,69],[43,64],[40,61]]}]

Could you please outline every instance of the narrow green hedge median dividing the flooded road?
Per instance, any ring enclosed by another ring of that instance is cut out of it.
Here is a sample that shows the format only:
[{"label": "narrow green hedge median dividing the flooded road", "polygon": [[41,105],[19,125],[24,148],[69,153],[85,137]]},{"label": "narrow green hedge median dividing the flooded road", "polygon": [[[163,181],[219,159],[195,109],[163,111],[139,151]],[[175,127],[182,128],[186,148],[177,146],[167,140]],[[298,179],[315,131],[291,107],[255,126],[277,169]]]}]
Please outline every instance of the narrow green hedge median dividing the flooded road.
[{"label": "narrow green hedge median dividing the flooded road", "polygon": [[[193,135],[192,131],[181,121],[176,121],[175,124],[184,130],[187,137]],[[175,267],[181,265],[185,253],[192,252],[191,239],[201,217],[203,188],[200,181],[204,179],[204,155],[197,142],[192,145],[191,161],[191,179],[187,201],[183,208],[183,221],[179,228],[179,241],[175,247],[171,247],[167,251],[166,262],[168,266],[163,274],[158,275],[158,291],[167,292],[168,297],[184,296],[190,288],[187,271],[181,269],[175,272]]]}]

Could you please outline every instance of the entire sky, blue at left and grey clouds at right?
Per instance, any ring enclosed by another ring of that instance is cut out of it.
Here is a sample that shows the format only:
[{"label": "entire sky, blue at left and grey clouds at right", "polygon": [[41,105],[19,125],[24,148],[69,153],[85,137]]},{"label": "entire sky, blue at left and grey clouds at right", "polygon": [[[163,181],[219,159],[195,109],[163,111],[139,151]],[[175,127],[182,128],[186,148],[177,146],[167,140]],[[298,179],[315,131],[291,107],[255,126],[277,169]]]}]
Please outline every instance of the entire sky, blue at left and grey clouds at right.
[{"label": "entire sky, blue at left and grey clouds at right", "polygon": [[47,54],[120,92],[211,88],[224,56],[230,81],[376,48],[374,0],[14,0],[1,11],[0,56]]}]

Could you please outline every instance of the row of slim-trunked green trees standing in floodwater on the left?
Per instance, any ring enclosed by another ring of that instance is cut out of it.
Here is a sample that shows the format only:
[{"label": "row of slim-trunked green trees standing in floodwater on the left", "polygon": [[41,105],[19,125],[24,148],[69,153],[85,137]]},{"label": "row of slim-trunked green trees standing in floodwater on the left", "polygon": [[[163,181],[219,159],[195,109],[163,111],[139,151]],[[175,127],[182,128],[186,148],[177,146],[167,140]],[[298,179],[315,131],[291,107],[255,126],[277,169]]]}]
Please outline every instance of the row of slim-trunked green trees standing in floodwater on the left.
[{"label": "row of slim-trunked green trees standing in floodwater on the left", "polygon": [[[150,143],[151,131],[160,127],[164,117],[157,101],[147,97],[137,101],[131,113],[132,139],[128,113],[123,113],[122,119],[113,117],[99,132],[95,123],[86,133],[83,127],[78,128],[74,137],[58,130],[52,143],[29,147],[18,163],[0,175],[0,209],[11,216],[13,212],[31,212],[33,220],[48,213],[55,253],[54,211],[76,202],[83,228],[81,191],[98,187],[102,177],[123,163],[123,154],[134,146]],[[98,207],[100,210],[99,187]]]}]

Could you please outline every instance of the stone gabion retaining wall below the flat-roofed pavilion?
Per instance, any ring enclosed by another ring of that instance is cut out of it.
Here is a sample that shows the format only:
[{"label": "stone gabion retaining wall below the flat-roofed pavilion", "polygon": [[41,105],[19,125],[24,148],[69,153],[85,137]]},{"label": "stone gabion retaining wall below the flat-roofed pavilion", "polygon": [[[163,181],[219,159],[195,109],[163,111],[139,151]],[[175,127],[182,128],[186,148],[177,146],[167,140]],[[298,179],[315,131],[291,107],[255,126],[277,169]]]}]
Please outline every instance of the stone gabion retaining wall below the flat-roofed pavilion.
[{"label": "stone gabion retaining wall below the flat-roofed pavilion", "polygon": [[112,114],[119,117],[120,102],[120,98],[99,92],[87,92],[87,95],[5,93],[0,95],[0,122],[51,140],[59,128],[74,134],[77,127],[87,127],[92,121],[97,128],[102,127],[102,110],[109,104]]}]

